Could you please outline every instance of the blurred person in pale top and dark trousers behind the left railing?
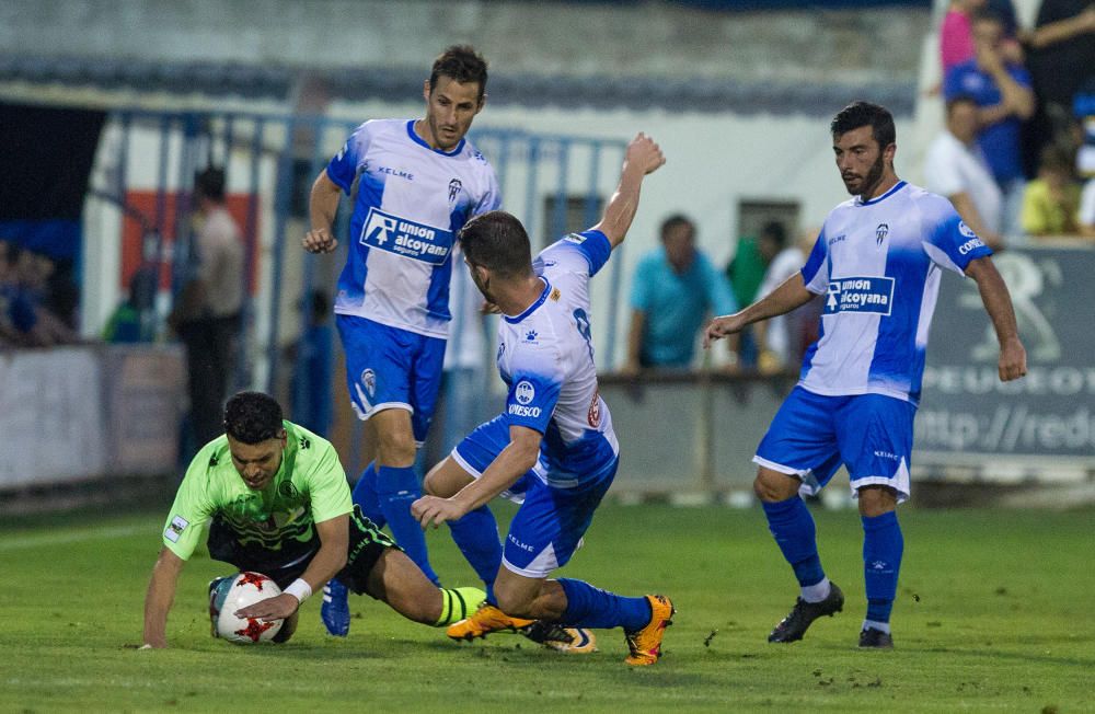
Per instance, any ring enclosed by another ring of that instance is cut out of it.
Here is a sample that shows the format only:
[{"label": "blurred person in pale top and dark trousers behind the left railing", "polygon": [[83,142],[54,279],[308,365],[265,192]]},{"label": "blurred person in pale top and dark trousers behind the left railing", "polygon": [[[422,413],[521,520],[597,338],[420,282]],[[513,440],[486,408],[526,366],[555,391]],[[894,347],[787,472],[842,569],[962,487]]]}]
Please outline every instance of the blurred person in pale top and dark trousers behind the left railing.
[{"label": "blurred person in pale top and dark trousers behind the left railing", "polygon": [[243,242],[224,205],[224,172],[209,166],[194,178],[200,228],[192,275],[169,316],[186,346],[191,426],[195,447],[224,433],[221,418],[231,375],[232,345],[243,304]]}]

